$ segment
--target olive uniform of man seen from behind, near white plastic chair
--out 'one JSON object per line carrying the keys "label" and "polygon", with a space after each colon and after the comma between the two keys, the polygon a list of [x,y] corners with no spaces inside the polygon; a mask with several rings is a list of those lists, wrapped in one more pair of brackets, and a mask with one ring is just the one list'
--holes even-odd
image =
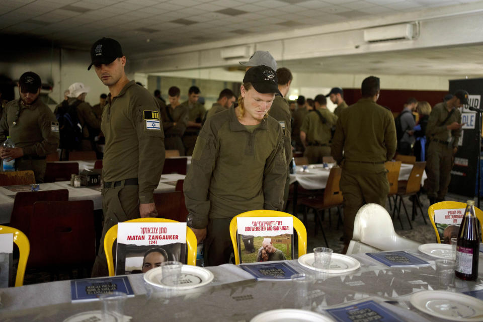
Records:
{"label": "olive uniform of man seen from behind, near white plastic chair", "polygon": [[352,239],[360,207],[366,203],[385,206],[389,183],[384,162],[391,160],[395,151],[396,128],[390,111],[370,98],[342,110],[332,140],[332,156],[342,167],[346,244]]}

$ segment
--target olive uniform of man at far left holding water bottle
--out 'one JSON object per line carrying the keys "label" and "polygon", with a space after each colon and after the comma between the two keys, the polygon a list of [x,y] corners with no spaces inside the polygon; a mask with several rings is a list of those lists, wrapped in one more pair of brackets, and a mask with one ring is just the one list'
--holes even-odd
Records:
{"label": "olive uniform of man at far left holding water bottle", "polygon": [[15,169],[32,170],[35,181],[44,182],[45,156],[59,147],[59,123],[50,108],[40,99],[32,105],[21,100],[9,102],[0,120],[0,142],[7,135],[24,152],[15,160]]}

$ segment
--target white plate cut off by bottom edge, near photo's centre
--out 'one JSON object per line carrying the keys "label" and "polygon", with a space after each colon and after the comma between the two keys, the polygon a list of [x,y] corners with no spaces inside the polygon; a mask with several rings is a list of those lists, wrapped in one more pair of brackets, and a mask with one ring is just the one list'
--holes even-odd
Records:
{"label": "white plate cut off by bottom edge, near photo's centre", "polygon": [[334,320],[311,311],[286,308],[260,313],[250,322],[333,322]]}

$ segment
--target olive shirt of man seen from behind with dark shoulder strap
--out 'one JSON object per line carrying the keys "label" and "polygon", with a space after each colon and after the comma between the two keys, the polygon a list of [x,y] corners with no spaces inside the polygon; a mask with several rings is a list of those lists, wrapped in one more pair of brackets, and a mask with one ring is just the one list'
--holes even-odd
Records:
{"label": "olive shirt of man seen from behind with dark shoulder strap", "polygon": [[327,123],[323,124],[317,112],[312,111],[305,115],[300,131],[305,132],[307,143],[330,145],[332,128],[336,125],[338,117],[328,109],[318,108]]}

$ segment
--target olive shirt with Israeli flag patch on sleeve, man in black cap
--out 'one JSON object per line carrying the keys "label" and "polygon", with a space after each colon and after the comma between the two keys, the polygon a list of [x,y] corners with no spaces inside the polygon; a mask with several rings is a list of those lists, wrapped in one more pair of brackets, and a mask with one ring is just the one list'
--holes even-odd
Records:
{"label": "olive shirt with Israeli flag patch on sleeve, man in black cap", "polygon": [[108,95],[101,130],[106,137],[104,182],[138,178],[139,202],[152,203],[165,162],[163,126],[154,97],[134,81]]}

